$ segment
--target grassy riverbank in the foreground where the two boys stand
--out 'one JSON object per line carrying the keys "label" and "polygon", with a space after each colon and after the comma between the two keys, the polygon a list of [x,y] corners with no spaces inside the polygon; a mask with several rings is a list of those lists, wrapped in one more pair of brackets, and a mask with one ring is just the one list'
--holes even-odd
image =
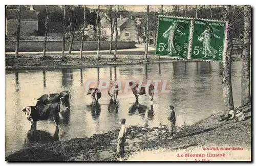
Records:
{"label": "grassy riverbank in the foreground where the two boys stand", "polygon": [[[251,148],[251,105],[242,107],[246,120],[232,123],[219,122],[220,114],[212,114],[194,125],[177,129],[177,135],[169,140],[166,126],[147,128],[131,126],[125,143],[126,159],[142,151],[165,148],[169,151],[194,149],[218,145],[218,147]],[[115,161],[118,130],[95,134],[91,137],[57,141],[17,151],[6,157],[7,161]],[[223,151],[221,151],[223,153]],[[242,153],[242,151],[240,151]],[[136,158],[136,157],[135,157]],[[225,160],[225,158],[224,158]]]}

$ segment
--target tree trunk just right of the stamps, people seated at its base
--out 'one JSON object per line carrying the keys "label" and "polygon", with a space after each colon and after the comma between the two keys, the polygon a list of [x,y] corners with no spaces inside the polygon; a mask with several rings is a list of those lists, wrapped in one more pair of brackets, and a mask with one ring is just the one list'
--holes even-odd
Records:
{"label": "tree trunk just right of the stamps, people seated at its base", "polygon": [[[226,12],[225,12],[225,19],[229,20],[230,22],[230,10],[228,6],[226,6]],[[233,49],[232,44],[232,36],[231,36],[231,28],[228,29],[227,34],[227,51],[226,54],[224,54],[224,63],[223,63],[223,99],[224,99],[224,112],[225,117],[228,116],[229,109],[228,107],[231,107],[234,109],[234,103],[233,103],[233,93],[232,93],[232,83],[231,83],[231,53]]]}

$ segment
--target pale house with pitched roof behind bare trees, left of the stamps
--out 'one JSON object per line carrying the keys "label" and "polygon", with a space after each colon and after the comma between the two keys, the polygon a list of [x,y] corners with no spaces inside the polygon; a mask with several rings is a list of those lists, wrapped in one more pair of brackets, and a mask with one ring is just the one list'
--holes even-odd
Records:
{"label": "pale house with pitched roof behind bare trees, left of the stamps", "polygon": [[[113,20],[114,22],[114,20]],[[100,20],[100,27],[101,27],[101,33],[106,34],[106,36],[108,37],[108,39],[110,40],[110,36],[111,36],[111,27],[110,27],[110,23],[108,20],[106,20],[105,17],[103,17]],[[118,40],[133,40],[133,41],[137,41],[138,40],[138,34],[136,31],[136,24],[135,24],[135,20],[131,17],[122,17],[120,15],[119,18],[117,18],[117,32],[118,32],[118,36],[117,39]],[[114,32],[114,39],[115,39],[115,32]]]}

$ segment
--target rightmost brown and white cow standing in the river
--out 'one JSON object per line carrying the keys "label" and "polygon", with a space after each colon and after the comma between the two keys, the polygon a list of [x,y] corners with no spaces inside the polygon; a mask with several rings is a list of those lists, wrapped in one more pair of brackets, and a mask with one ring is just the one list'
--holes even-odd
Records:
{"label": "rightmost brown and white cow standing in the river", "polygon": [[[133,82],[129,83],[129,86],[133,86]],[[150,86],[147,87],[147,85],[141,85],[140,89],[138,89],[139,85],[136,84],[135,87],[132,88],[133,94],[135,96],[136,102],[138,102],[138,98],[141,95],[146,95],[147,93],[150,96],[150,101],[152,102],[151,105],[153,105],[153,97],[154,97],[154,85],[150,84]],[[146,91],[148,89],[148,91]]]}

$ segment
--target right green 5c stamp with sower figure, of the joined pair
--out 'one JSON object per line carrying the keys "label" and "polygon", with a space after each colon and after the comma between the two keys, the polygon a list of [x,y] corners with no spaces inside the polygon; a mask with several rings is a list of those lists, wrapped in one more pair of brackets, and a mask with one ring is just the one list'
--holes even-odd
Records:
{"label": "right green 5c stamp with sower figure, of the joined pair", "polygon": [[193,21],[193,37],[190,59],[222,61],[226,41],[225,21]]}

